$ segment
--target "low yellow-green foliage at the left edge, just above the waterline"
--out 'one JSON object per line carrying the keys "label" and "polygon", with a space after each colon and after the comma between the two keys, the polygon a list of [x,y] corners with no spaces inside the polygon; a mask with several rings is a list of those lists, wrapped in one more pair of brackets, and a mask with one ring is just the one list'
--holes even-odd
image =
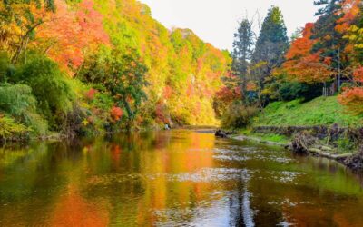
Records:
{"label": "low yellow-green foliage at the left edge, just above the waterline", "polygon": [[29,129],[21,123],[16,123],[14,119],[0,115],[0,140],[15,139],[23,136]]}

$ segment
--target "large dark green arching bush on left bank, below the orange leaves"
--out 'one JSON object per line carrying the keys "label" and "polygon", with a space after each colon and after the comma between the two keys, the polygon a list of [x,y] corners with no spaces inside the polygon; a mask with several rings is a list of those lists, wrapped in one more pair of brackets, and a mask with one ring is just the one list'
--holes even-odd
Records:
{"label": "large dark green arching bush on left bank, below the orange leaves", "polygon": [[59,125],[66,121],[66,115],[73,109],[75,94],[71,79],[58,65],[48,58],[36,56],[23,65],[12,80],[32,88],[39,111],[52,129],[59,130]]}

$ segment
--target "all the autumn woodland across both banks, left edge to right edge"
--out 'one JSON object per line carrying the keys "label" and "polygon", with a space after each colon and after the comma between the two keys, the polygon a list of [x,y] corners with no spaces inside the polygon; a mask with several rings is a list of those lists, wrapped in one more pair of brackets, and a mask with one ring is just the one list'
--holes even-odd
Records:
{"label": "all the autumn woodland across both banks, left edge to right edge", "polygon": [[[189,29],[167,29],[135,0],[1,1],[0,137],[73,137],[165,124],[245,128],[269,124],[261,114],[271,106],[321,96],[329,113],[312,113],[300,124],[357,126],[362,5],[315,5],[317,21],[291,37],[277,6],[258,21],[242,19],[230,53]],[[289,118],[286,112],[274,119]]]}

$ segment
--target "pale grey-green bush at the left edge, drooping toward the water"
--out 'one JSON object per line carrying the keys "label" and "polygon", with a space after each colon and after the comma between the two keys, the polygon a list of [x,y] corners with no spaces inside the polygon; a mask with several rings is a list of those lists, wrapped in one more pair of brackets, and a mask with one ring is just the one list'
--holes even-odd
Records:
{"label": "pale grey-green bush at the left edge, drooping toward the water", "polygon": [[0,86],[0,110],[14,116],[31,127],[36,135],[47,133],[48,125],[36,113],[36,100],[32,89],[25,84],[3,84]]}

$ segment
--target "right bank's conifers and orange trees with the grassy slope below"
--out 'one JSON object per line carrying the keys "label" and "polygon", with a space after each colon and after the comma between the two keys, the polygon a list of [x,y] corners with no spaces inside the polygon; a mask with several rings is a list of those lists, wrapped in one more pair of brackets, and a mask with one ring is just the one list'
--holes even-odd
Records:
{"label": "right bank's conifers and orange trees with the grassy slope below", "polygon": [[[355,0],[314,5],[317,21],[291,37],[278,7],[270,8],[259,35],[253,31],[256,21],[241,21],[230,74],[218,93],[225,127],[246,127],[256,115],[252,124],[361,125],[362,5]],[[312,100],[317,108],[309,106]],[[301,109],[299,116],[296,108]]]}

